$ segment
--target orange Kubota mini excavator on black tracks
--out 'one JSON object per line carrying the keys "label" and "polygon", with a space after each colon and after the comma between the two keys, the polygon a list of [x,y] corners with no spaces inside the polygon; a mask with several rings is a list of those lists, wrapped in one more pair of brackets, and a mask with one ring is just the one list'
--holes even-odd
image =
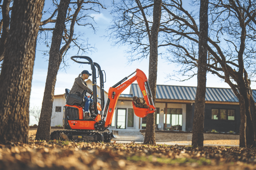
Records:
{"label": "orange Kubota mini excavator on black tracks", "polygon": [[[77,61],[77,58],[85,59],[86,61]],[[112,130],[112,132],[103,132],[106,130],[113,118],[113,112],[117,104],[117,100],[121,94],[130,84],[137,80],[140,87],[141,93],[143,94],[146,108],[136,107],[133,104],[134,113],[136,116],[141,118],[147,116],[149,113],[155,112],[156,108],[152,100],[152,94],[149,88],[149,83],[147,77],[143,71],[136,69],[135,72],[129,76],[123,78],[114,86],[110,87],[108,93],[108,99],[106,103],[106,108],[104,113],[99,112],[104,109],[104,83],[106,82],[106,74],[104,70],[98,63],[94,63],[90,57],[87,56],[73,56],[71,59],[77,63],[90,64],[92,70],[92,90],[93,95],[90,98],[93,102],[89,106],[90,116],[93,119],[84,120],[83,105],[84,105],[84,95],[86,91],[82,94],[77,92],[77,94],[69,94],[69,89],[66,89],[66,105],[63,107],[63,129],[67,130],[57,130],[51,133],[51,139],[64,139],[69,138],[73,141],[85,141],[85,142],[110,142],[113,138],[119,138],[118,131]],[[96,72],[97,68],[97,72]],[[103,72],[104,75],[103,76]],[[136,73],[136,74],[135,74]],[[128,77],[135,74],[129,80]],[[100,78],[100,97],[97,96],[97,86],[96,78]],[[105,81],[104,81],[105,77]],[[89,96],[88,96],[89,97]],[[138,106],[138,105],[137,105]],[[105,121],[106,118],[106,121]],[[64,134],[64,135],[63,135]]]}

